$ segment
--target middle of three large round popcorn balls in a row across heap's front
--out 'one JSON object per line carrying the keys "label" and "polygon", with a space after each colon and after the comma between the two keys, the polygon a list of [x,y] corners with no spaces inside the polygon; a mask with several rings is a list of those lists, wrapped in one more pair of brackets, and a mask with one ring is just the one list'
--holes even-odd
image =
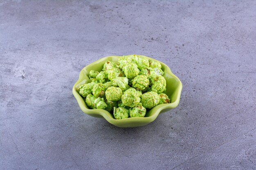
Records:
{"label": "middle of three large round popcorn balls in a row across heap's front", "polygon": [[135,90],[135,88],[129,88],[122,95],[122,102],[125,106],[135,107],[140,102],[139,93]]}

